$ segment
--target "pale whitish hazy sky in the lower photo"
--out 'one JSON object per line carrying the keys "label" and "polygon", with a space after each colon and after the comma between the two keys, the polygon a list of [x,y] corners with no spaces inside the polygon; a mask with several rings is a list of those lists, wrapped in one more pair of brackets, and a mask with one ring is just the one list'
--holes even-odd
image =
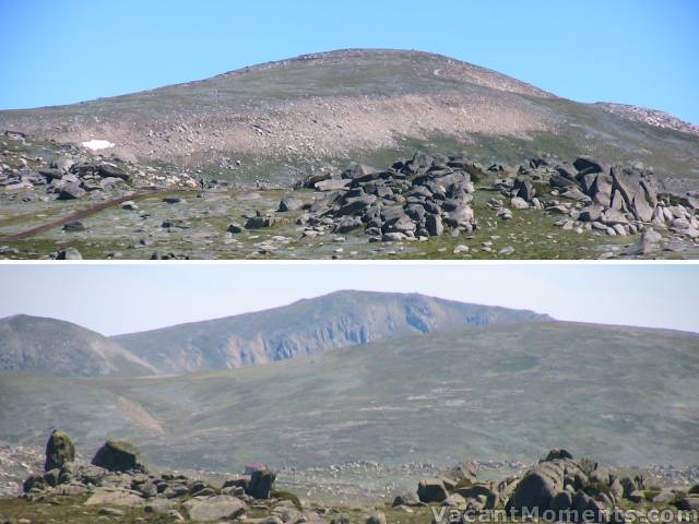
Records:
{"label": "pale whitish hazy sky in the lower photo", "polygon": [[337,289],[422,293],[558,320],[699,332],[699,266],[657,264],[0,265],[0,317],[54,317],[110,335]]}

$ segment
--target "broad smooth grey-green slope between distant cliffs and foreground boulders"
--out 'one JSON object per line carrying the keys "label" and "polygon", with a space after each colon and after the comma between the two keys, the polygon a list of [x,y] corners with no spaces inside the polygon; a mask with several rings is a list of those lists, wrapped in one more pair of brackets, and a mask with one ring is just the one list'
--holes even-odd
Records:
{"label": "broad smooth grey-green slope between distant cliffs and foreground boulders", "polygon": [[[153,463],[233,469],[348,460],[699,462],[697,335],[574,323],[415,335],[256,368],[159,379],[3,376],[0,436],[61,425],[135,438]],[[165,436],[115,412],[122,395]],[[104,407],[107,406],[107,407]],[[31,414],[31,416],[28,415]],[[128,417],[128,414],[127,414]],[[12,421],[12,424],[10,424]]]}

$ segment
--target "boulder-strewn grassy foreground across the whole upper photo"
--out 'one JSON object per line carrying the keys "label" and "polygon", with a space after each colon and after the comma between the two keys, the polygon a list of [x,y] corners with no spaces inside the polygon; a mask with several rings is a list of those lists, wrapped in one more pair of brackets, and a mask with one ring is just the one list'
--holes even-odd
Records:
{"label": "boulder-strewn grassy foreground across the whole upper photo", "polygon": [[17,133],[0,147],[8,259],[699,257],[698,193],[642,164],[418,153],[245,189]]}

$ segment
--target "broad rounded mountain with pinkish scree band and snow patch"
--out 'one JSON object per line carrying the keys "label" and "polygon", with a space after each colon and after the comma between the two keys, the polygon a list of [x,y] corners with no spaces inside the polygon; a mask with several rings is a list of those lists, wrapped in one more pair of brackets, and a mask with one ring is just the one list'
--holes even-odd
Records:
{"label": "broad rounded mountain with pinkish scree band and snow patch", "polygon": [[[580,81],[602,79],[581,71]],[[696,128],[620,107],[559,98],[439,55],[348,49],[76,105],[0,111],[0,128],[110,143],[109,151],[142,160],[215,166],[241,183],[291,182],[298,169],[420,144],[460,145],[477,159],[584,153],[647,162],[664,176],[699,174]]]}

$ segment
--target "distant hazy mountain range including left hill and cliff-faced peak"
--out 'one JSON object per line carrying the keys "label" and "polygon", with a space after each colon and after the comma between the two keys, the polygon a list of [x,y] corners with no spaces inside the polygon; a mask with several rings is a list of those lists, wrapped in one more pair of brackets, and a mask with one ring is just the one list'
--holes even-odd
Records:
{"label": "distant hazy mountain range including left hill and cliff-faced peak", "polygon": [[[363,307],[369,311],[363,311]],[[0,319],[0,369],[69,376],[212,371],[333,350],[402,333],[546,319],[549,317],[528,310],[469,305],[419,294],[347,290],[111,337],[68,321],[19,314]]]}

